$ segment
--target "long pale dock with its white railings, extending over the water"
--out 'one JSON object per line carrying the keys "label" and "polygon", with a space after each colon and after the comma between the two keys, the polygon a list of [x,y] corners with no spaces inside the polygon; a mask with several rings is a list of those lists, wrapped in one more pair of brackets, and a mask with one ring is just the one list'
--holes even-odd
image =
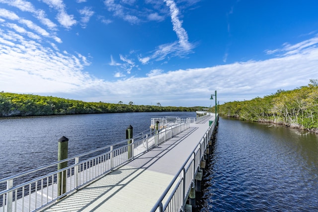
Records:
{"label": "long pale dock with its white railings, extending over the water", "polygon": [[[195,190],[198,189],[196,187],[202,180],[205,155],[209,153],[216,120],[215,114],[209,113],[196,122],[187,123],[187,127],[183,125],[183,129],[180,124],[180,130],[172,126],[159,127],[161,131],[153,136],[147,136],[139,143],[133,141],[132,153],[129,153],[129,147],[120,147],[123,148],[121,150],[110,147],[110,153],[98,156],[97,162],[95,159],[95,162],[89,162],[87,165],[87,161],[83,161],[81,165],[78,159],[75,159],[75,164],[65,169],[70,170],[67,180],[69,188],[65,194],[56,194],[54,173],[50,185],[47,180],[47,187],[43,186],[43,179],[49,179],[49,176],[41,179],[42,190],[36,191],[40,193],[40,197],[36,198],[35,195],[35,200],[32,201],[30,197],[25,197],[24,200],[16,198],[11,205],[3,201],[6,207],[2,205],[0,211],[191,211],[195,204]],[[155,129],[155,126],[153,128]],[[86,173],[81,174],[84,170]],[[88,172],[92,177],[85,180]],[[3,199],[6,198],[5,195],[14,194],[10,189],[13,191],[14,187],[7,189],[5,194],[2,192]],[[43,192],[45,190],[46,193]],[[48,198],[51,191],[52,195]],[[43,197],[46,199],[44,203]],[[37,204],[40,199],[41,204]],[[28,201],[28,207],[21,201]],[[33,209],[31,202],[35,202]]]}

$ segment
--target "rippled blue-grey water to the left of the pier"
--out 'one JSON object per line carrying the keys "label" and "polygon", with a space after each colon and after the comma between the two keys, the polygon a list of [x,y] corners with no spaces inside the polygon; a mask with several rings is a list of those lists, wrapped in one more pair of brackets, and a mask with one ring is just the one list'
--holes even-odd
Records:
{"label": "rippled blue-grey water to the left of the pier", "polygon": [[0,119],[0,179],[57,160],[58,140],[69,139],[74,156],[149,130],[151,118],[195,117],[195,112],[112,113]]}

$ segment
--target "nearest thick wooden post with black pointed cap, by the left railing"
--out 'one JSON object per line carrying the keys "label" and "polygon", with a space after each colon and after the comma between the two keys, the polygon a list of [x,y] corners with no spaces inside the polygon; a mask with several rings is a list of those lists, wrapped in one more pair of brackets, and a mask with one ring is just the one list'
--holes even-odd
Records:
{"label": "nearest thick wooden post with black pointed cap, by the left railing", "polygon": [[[69,146],[68,138],[63,136],[61,139],[59,139],[58,161],[68,158],[68,146]],[[67,166],[68,166],[68,161],[59,163],[58,170],[63,169]],[[67,174],[66,170],[58,173],[58,196],[61,196],[62,194],[66,193],[66,174]]]}

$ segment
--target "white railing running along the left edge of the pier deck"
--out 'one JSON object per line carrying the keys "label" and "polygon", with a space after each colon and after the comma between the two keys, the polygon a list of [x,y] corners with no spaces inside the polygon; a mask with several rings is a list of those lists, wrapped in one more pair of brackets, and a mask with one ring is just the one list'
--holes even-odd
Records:
{"label": "white railing running along the left edge of the pier deck", "polygon": [[[0,185],[6,183],[6,189],[0,191],[0,212],[43,209],[189,127],[189,122],[178,123],[159,131],[150,131],[149,134],[140,134],[131,139],[130,144],[128,140],[121,141],[1,179]],[[58,164],[62,162],[68,162],[68,166],[57,170]],[[63,194],[58,194],[59,175],[66,175],[66,178],[61,177],[61,191],[65,191]],[[17,179],[24,179],[23,183],[15,185]],[[66,183],[63,179],[66,179]],[[65,189],[62,188],[63,184],[66,184]]]}

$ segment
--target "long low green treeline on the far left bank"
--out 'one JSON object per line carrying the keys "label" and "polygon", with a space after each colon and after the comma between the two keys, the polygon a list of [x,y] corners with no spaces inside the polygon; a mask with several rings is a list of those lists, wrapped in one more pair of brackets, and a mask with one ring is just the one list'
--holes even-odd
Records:
{"label": "long low green treeline on the far left bank", "polygon": [[0,92],[0,117],[47,116],[91,113],[196,111],[202,107],[161,107],[159,105],[83,102],[52,96]]}

